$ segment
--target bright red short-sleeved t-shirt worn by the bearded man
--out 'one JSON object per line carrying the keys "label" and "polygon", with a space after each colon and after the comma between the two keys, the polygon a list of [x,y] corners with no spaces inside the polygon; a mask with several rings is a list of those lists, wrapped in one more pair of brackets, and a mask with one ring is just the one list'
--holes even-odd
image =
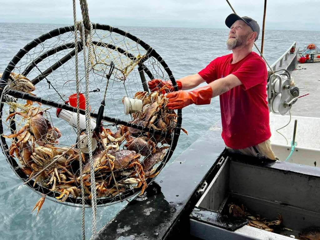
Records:
{"label": "bright red short-sleeved t-shirt worn by the bearded man", "polygon": [[266,63],[255,52],[235,64],[232,53],[214,59],[198,74],[210,83],[233,74],[241,85],[220,95],[222,139],[229,148],[242,149],[271,137],[267,102]]}

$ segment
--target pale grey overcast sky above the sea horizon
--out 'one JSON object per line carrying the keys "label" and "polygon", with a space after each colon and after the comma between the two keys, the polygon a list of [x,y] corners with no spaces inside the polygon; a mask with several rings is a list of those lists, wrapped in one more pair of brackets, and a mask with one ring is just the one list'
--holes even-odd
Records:
{"label": "pale grey overcast sky above the sea horizon", "polygon": [[[264,0],[229,0],[262,28]],[[77,16],[80,19],[79,1]],[[88,0],[90,20],[115,26],[226,28],[225,0]],[[0,0],[0,22],[73,24],[71,0]],[[266,29],[320,30],[319,0],[268,0]]]}

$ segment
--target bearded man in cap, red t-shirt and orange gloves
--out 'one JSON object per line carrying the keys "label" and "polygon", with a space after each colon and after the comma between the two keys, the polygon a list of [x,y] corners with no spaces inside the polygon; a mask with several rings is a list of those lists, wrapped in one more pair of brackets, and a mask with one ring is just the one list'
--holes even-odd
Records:
{"label": "bearded man in cap, red t-shirt and orange gloves", "polygon": [[[220,95],[222,138],[230,152],[276,160],[270,145],[269,109],[267,104],[267,67],[262,58],[252,52],[260,27],[249,17],[230,14],[227,47],[231,54],[218,57],[195,75],[177,81],[180,91],[173,92],[170,81],[148,82],[151,91],[165,84],[168,108],[180,109],[190,104],[210,104]],[[206,82],[208,85],[184,91]]]}

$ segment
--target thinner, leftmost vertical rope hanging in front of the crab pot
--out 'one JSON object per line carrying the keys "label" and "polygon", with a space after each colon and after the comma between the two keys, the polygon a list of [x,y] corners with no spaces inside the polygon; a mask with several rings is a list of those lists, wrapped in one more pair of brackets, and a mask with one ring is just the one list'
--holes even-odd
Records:
{"label": "thinner, leftmost vertical rope hanging in front of the crab pot", "polygon": [[[75,25],[75,68],[76,68],[76,92],[77,92],[77,139],[80,139],[80,113],[79,113],[79,70],[78,70],[78,34],[77,34],[77,20],[76,20],[76,0],[73,0],[73,20]],[[84,204],[84,186],[82,178],[82,157],[81,149],[79,148],[79,166],[80,166],[80,185],[82,198],[82,240],[85,240],[85,204]]]}

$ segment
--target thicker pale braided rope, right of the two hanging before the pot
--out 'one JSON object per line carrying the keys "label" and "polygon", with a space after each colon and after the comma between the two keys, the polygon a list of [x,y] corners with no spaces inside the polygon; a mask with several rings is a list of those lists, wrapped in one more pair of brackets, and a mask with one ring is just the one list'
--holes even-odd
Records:
{"label": "thicker pale braided rope, right of the two hanging before the pot", "polygon": [[[96,192],[96,181],[94,176],[94,166],[93,166],[93,156],[92,156],[92,132],[90,123],[90,106],[89,106],[89,69],[90,60],[89,57],[92,54],[92,24],[90,27],[90,35],[88,39],[88,45],[86,45],[86,40],[84,36],[84,24],[82,22],[82,42],[83,42],[83,54],[84,54],[84,71],[85,71],[85,123],[86,123],[86,133],[89,148],[89,159],[90,159],[90,185],[91,185],[91,197],[92,197],[92,236],[96,233],[96,216],[97,216],[97,192]],[[85,46],[88,46],[88,58],[86,56]]]}

